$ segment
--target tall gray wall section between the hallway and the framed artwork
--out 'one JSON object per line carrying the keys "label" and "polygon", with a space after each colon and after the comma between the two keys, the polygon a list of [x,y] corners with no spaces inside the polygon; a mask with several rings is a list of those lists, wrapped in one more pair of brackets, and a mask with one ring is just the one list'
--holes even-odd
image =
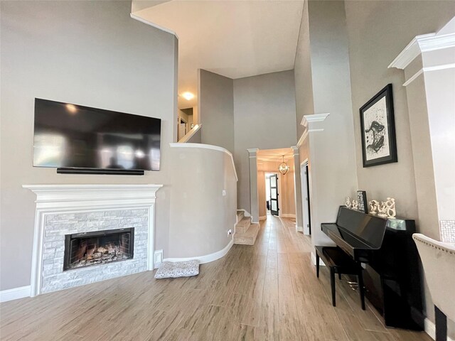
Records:
{"label": "tall gray wall section between the hallway and the framed artwork", "polygon": [[[357,189],[348,35],[343,1],[309,1],[305,15],[309,18],[302,21],[296,59],[297,116],[330,113],[325,121],[310,124],[310,129],[323,131],[310,132],[299,150],[301,161],[311,159],[311,239],[323,245],[332,242],[317,227],[335,221],[344,197]],[[305,112],[312,106],[314,112]]]}

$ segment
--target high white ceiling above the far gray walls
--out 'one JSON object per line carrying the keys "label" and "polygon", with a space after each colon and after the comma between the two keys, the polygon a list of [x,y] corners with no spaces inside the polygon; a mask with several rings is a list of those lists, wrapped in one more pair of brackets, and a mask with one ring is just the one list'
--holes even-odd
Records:
{"label": "high white ceiling above the far gray walls", "polygon": [[[133,1],[134,15],[178,36],[179,94],[196,94],[198,69],[236,79],[294,68],[303,0],[146,3]],[[196,103],[178,99],[180,109]]]}

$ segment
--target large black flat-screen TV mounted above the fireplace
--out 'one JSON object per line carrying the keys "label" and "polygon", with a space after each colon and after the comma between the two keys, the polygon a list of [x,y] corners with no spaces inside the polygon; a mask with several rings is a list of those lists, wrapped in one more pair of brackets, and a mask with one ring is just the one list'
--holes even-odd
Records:
{"label": "large black flat-screen TV mounted above the fireplace", "polygon": [[159,171],[161,119],[35,99],[33,166]]}

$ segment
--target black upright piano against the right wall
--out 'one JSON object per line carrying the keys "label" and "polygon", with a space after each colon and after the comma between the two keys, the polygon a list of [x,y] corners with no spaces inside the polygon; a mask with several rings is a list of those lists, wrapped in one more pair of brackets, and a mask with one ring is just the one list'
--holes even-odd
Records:
{"label": "black upright piano against the right wall", "polygon": [[422,288],[414,220],[387,219],[341,206],[322,231],[363,264],[365,296],[389,327],[423,330]]}

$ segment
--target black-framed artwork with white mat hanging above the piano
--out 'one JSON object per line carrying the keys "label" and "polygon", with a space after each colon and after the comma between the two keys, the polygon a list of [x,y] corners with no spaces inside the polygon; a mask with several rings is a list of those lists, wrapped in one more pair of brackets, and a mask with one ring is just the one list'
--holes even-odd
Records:
{"label": "black-framed artwork with white mat hanging above the piano", "polygon": [[397,162],[392,85],[360,108],[363,167]]}

